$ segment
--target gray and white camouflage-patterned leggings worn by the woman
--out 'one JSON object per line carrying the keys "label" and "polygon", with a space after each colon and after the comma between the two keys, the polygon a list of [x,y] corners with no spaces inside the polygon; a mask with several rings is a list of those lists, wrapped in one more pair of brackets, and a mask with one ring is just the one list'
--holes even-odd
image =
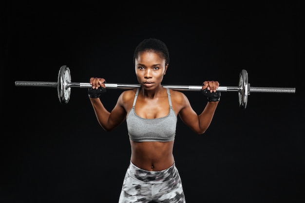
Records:
{"label": "gray and white camouflage-patterned leggings worn by the woman", "polygon": [[185,203],[175,164],[161,171],[148,171],[130,162],[119,203]]}

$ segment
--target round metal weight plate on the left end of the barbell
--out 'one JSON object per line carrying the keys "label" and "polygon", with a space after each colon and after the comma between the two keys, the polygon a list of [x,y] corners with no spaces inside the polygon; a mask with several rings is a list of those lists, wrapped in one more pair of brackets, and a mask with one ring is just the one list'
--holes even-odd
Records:
{"label": "round metal weight plate on the left end of the barbell", "polygon": [[57,79],[57,93],[61,104],[67,104],[70,99],[71,88],[68,84],[71,83],[71,73],[67,66],[61,66]]}

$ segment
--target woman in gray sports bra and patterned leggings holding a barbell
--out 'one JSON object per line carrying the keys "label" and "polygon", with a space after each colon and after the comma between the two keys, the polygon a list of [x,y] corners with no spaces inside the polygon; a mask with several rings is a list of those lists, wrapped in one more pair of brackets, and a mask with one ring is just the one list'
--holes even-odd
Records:
{"label": "woman in gray sports bra and patterned leggings holding a barbell", "polygon": [[184,93],[164,88],[163,76],[169,67],[167,46],[159,39],[144,39],[135,48],[134,70],[140,88],[123,91],[112,111],[99,96],[104,78],[90,78],[88,95],[96,118],[106,131],[126,119],[131,160],[126,171],[119,203],[185,203],[185,196],[173,157],[177,115],[197,134],[212,121],[220,99],[217,81],[205,81],[202,92],[208,103],[201,114],[191,107]]}

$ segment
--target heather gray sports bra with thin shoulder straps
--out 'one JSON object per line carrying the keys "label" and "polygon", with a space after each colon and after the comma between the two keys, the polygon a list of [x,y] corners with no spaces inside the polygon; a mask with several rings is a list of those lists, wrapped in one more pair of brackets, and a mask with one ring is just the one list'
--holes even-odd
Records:
{"label": "heather gray sports bra with thin shoulder straps", "polygon": [[135,142],[168,142],[175,139],[177,116],[172,109],[170,90],[167,88],[170,112],[161,118],[142,118],[134,111],[139,88],[137,89],[133,108],[126,117],[129,139]]}

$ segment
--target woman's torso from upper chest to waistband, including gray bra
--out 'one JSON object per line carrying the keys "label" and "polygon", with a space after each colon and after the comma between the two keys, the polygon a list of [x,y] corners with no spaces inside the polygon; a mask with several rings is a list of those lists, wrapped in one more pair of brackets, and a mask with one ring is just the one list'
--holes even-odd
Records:
{"label": "woman's torso from upper chest to waistband, including gray bra", "polygon": [[134,92],[133,107],[126,117],[131,161],[144,170],[163,170],[174,162],[172,149],[177,114],[172,109],[170,91],[164,90],[153,98],[138,94],[138,90]]}

